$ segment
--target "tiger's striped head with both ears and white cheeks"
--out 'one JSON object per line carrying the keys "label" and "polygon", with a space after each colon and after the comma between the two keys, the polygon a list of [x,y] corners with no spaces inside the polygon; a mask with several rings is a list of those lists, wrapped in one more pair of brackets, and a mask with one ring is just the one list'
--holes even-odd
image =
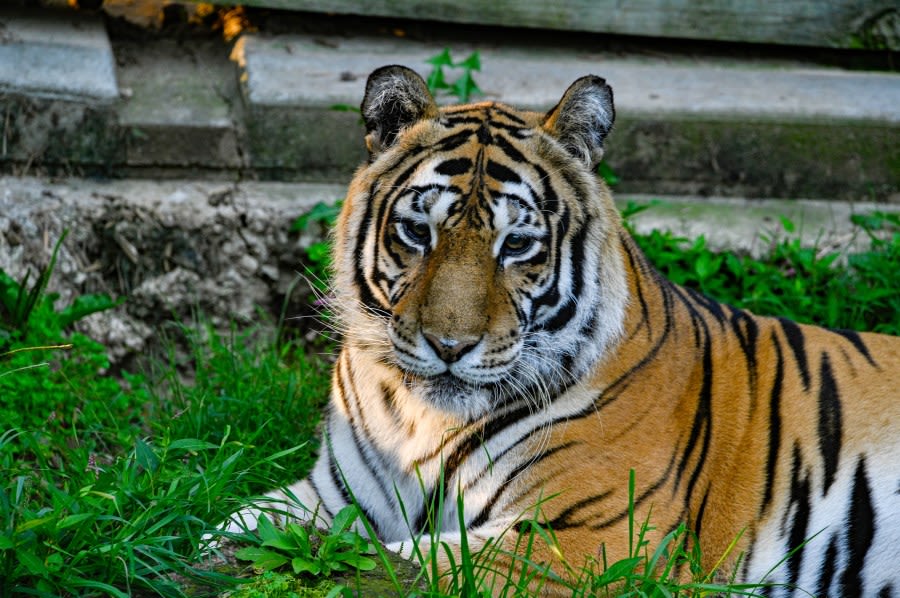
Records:
{"label": "tiger's striped head with both ears and white cheeks", "polygon": [[581,78],[546,114],[439,108],[387,66],[362,115],[370,160],[335,239],[346,341],[467,421],[575,383],[621,335],[627,301],[618,213],[594,172],[609,86]]}

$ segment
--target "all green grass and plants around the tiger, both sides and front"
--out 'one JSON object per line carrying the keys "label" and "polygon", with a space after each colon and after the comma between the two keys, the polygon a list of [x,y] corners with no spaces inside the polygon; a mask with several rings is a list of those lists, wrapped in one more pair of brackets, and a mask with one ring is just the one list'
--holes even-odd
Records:
{"label": "all green grass and plants around the tiger, both sides and front", "polygon": [[[333,213],[320,216],[328,221]],[[853,255],[802,247],[790,238],[772,242],[764,258],[714,253],[702,240],[665,233],[639,236],[638,242],[669,278],[733,305],[900,334],[900,219],[876,214],[857,224],[872,247]],[[313,273],[324,276],[327,261],[319,254],[312,258]],[[114,377],[105,349],[72,332],[71,324],[115,302],[90,296],[58,306],[44,292],[49,269],[34,282],[3,276],[0,596],[179,596],[233,583],[224,573],[196,567],[200,538],[247,497],[308,471],[329,366],[306,347],[282,340],[275,323],[233,326],[223,334],[198,317],[168,329],[168,351],[151,368]],[[519,562],[527,564],[536,543],[554,542],[552,530],[538,521],[520,540]],[[660,596],[723,591],[710,585],[710,572],[696,569],[699,557],[688,530],[652,547],[644,541],[652,521],[633,525],[628,559],[570,564],[581,580],[574,595],[629,588],[635,595]],[[434,544],[422,555],[424,577],[410,582],[376,549],[388,587],[401,593],[415,588],[419,595],[478,595],[493,584],[513,596],[544,574],[528,566],[497,571],[496,563],[508,559],[498,560],[502,554],[490,545],[464,551],[439,585],[431,563],[433,551],[443,548]],[[659,574],[644,573],[648,562],[660,563]],[[678,562],[693,572],[687,585],[667,576]],[[266,583],[285,596],[296,594],[279,575],[254,582],[244,595],[265,595]],[[311,578],[311,585],[317,583]],[[340,585],[319,591],[342,592]]]}

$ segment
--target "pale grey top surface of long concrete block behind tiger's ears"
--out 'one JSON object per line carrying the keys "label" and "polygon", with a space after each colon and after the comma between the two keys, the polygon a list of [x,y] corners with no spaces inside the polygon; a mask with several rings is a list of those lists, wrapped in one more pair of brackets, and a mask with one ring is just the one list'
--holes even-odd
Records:
{"label": "pale grey top surface of long concrete block behind tiger's ears", "polygon": [[[329,107],[359,95],[360,82],[375,68],[430,68],[426,60],[443,47],[403,38],[248,34],[234,56],[245,68],[251,104]],[[483,99],[522,108],[547,110],[575,79],[596,74],[615,90],[617,114],[630,118],[860,120],[900,126],[900,75],[892,73],[712,58],[622,58],[490,41],[453,48],[460,58],[474,51],[481,54],[476,78]]]}

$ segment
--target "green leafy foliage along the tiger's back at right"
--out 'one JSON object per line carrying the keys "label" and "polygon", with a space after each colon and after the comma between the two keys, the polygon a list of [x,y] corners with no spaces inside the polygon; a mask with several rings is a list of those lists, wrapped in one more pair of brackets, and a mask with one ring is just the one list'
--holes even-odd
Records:
{"label": "green leafy foliage along the tiger's back at right", "polygon": [[[642,209],[629,206],[624,215]],[[769,252],[755,258],[713,252],[703,237],[632,234],[663,275],[724,303],[829,328],[900,335],[900,216],[879,212],[854,216],[853,223],[869,237],[868,250],[824,251],[788,237],[768,239]],[[782,225],[789,233],[795,228],[787,219]]]}

